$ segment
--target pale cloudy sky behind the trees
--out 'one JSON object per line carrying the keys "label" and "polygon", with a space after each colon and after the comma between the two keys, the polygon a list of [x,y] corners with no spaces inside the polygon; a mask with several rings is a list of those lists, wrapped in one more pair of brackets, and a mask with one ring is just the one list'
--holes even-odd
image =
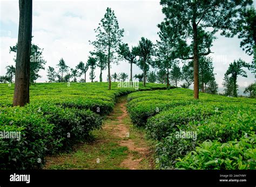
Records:
{"label": "pale cloudy sky behind the trees", "polygon": [[[93,50],[89,40],[95,40],[94,29],[104,17],[107,7],[114,10],[119,27],[125,31],[123,42],[129,46],[138,45],[141,37],[154,43],[159,39],[157,24],[163,21],[164,15],[159,1],[156,0],[33,0],[32,43],[44,49],[43,58],[47,61],[45,70],[39,71],[42,78],[38,78],[36,82],[48,81],[46,69],[48,66],[56,68],[62,57],[70,68],[75,68],[79,61],[87,61],[89,52]],[[0,75],[4,75],[6,66],[15,65],[15,54],[9,53],[9,49],[18,41],[18,0],[0,0],[0,10]],[[222,82],[228,65],[239,58],[251,63],[253,56],[242,51],[237,36],[225,38],[218,33],[215,36],[217,39],[211,48],[213,53],[209,56],[213,58],[215,78],[219,91],[222,92]],[[247,78],[238,77],[240,94],[247,85],[255,81],[254,75],[246,71]],[[126,61],[112,64],[111,74],[114,72],[124,72],[130,76],[130,64]],[[133,66],[133,75],[139,73],[142,70]],[[106,77],[107,70],[103,72],[103,81],[106,81]],[[89,71],[86,80],[89,81]],[[99,81],[99,68],[96,70],[96,80]]]}

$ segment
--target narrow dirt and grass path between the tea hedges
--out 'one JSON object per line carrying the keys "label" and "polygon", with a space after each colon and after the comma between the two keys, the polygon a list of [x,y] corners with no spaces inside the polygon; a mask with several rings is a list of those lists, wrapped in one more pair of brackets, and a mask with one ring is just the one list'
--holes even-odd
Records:
{"label": "narrow dirt and grass path between the tea hedges", "polygon": [[44,169],[154,169],[152,143],[144,130],[133,127],[126,97],[118,99],[93,135],[95,141],[81,143],[72,153],[47,157]]}

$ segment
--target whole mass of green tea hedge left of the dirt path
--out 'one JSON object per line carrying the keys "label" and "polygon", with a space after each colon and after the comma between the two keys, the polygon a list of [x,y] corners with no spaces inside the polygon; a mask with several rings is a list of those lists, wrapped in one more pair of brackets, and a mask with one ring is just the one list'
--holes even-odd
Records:
{"label": "whole mass of green tea hedge left of the dirt path", "polygon": [[[116,98],[137,91],[107,83],[37,83],[30,86],[30,104],[12,107],[14,85],[0,84],[0,132],[20,132],[19,140],[0,138],[1,169],[42,168],[45,156],[70,151],[91,138]],[[162,84],[139,90],[165,89]]]}

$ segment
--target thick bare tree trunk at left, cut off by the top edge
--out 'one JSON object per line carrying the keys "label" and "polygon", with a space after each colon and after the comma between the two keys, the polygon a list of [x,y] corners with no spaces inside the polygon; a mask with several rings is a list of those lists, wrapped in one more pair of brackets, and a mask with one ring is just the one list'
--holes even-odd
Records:
{"label": "thick bare tree trunk at left, cut off by the top edge", "polygon": [[15,72],[14,106],[29,103],[32,0],[19,0],[19,32]]}

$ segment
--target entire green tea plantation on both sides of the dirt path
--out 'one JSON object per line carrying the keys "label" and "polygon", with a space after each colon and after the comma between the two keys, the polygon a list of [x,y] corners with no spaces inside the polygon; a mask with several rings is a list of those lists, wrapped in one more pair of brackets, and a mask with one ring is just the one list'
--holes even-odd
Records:
{"label": "entire green tea plantation on both sides of the dirt path", "polygon": [[21,132],[20,139],[0,138],[1,169],[41,169],[45,156],[69,152],[93,140],[119,96],[127,96],[134,125],[156,141],[159,169],[255,169],[256,100],[165,90],[148,83],[139,89],[112,83],[38,83],[30,104],[12,107],[14,85],[0,84],[0,132]]}

